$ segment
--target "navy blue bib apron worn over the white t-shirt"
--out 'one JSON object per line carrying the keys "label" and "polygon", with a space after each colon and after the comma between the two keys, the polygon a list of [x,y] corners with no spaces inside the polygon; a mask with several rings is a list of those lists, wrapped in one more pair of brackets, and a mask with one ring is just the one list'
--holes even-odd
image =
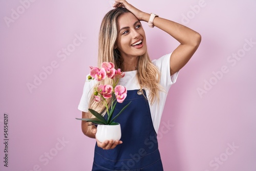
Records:
{"label": "navy blue bib apron worn over the white t-shirt", "polygon": [[[114,116],[130,101],[130,105],[115,120],[121,125],[122,144],[104,150],[95,145],[93,171],[96,170],[163,170],[158,150],[150,106],[138,90],[127,91],[122,103],[117,103]],[[143,90],[146,95],[145,91]],[[114,117],[113,116],[113,117]]]}

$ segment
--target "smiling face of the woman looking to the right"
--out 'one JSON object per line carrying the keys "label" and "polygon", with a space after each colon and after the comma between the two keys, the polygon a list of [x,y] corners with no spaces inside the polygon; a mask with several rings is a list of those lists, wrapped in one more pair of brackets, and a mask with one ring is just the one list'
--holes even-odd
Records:
{"label": "smiling face of the woman looking to the right", "polygon": [[124,60],[141,56],[146,52],[145,32],[131,12],[126,12],[118,18],[116,46]]}

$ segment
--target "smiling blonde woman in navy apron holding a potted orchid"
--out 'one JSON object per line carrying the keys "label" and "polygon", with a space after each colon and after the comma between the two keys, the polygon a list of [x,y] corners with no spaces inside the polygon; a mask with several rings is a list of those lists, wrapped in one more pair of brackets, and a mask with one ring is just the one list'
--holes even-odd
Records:
{"label": "smiling blonde woman in navy apron holding a potted orchid", "polygon": [[[201,42],[197,32],[170,20],[140,11],[125,0],[115,0],[101,24],[98,62],[115,63],[125,76],[119,84],[128,90],[125,105],[129,108],[118,117],[120,141],[107,140],[95,145],[93,170],[163,170],[157,144],[157,131],[167,92],[175,83],[178,71],[196,52]],[[147,54],[141,21],[158,27],[180,42],[170,54],[151,61]],[[111,81],[111,80],[104,80]],[[105,84],[106,82],[100,82]],[[108,82],[110,83],[110,82]],[[84,84],[78,109],[83,118],[92,117],[88,109],[102,112],[104,106],[93,100],[95,81]],[[82,121],[84,135],[95,138],[96,127]]]}

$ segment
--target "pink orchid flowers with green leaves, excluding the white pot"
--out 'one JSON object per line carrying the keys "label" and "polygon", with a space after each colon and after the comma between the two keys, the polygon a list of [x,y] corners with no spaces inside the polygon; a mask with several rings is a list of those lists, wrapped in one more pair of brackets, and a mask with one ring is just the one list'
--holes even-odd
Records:
{"label": "pink orchid flowers with green leaves, excluding the white pot", "polygon": [[[121,69],[115,69],[115,65],[112,62],[103,62],[101,64],[101,68],[98,67],[90,67],[90,75],[88,79],[95,79],[97,81],[101,81],[106,77],[113,79],[113,85],[99,85],[94,90],[94,100],[96,102],[101,102],[106,108],[106,114],[108,115],[106,119],[98,112],[93,109],[88,109],[95,118],[76,118],[78,120],[83,120],[87,122],[92,122],[93,124],[105,124],[105,125],[116,125],[118,123],[114,122],[114,120],[127,108],[127,106],[131,103],[128,103],[123,107],[123,109],[114,117],[113,113],[116,107],[117,102],[122,103],[123,100],[127,96],[127,90],[125,87],[118,85],[119,78],[124,77],[124,73],[121,72]],[[116,79],[114,79],[116,78]],[[112,98],[113,97],[113,98]],[[111,105],[109,109],[109,105],[106,99],[111,99]]]}

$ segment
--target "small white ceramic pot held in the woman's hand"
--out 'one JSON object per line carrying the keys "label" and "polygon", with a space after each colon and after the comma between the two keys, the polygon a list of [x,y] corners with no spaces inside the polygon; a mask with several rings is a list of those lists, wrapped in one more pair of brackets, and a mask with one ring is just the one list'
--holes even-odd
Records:
{"label": "small white ceramic pot held in the woman's hand", "polygon": [[98,125],[96,138],[103,142],[105,140],[120,140],[121,138],[121,126],[118,125]]}

